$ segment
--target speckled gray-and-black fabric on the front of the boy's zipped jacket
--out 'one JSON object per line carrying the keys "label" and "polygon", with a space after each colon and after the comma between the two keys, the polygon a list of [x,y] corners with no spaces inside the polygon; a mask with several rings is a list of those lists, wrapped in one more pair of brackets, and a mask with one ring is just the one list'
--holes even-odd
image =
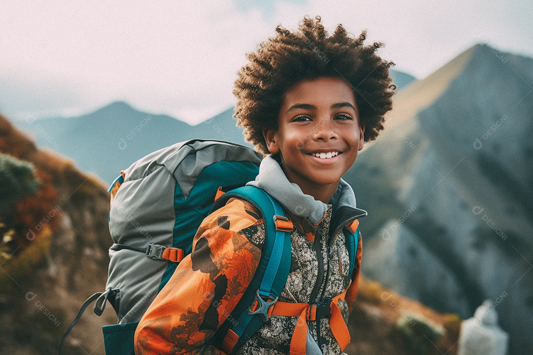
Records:
{"label": "speckled gray-and-black fabric on the front of the boy's zipped jacket", "polygon": [[[287,283],[279,301],[320,303],[342,293],[350,283],[350,260],[342,229],[337,235],[330,233],[332,205],[327,206],[324,218],[318,224],[312,224],[290,213],[289,217],[295,227],[291,234],[292,260]],[[262,242],[263,230],[264,228],[257,228],[255,235],[249,235],[248,238],[254,242]],[[237,353],[288,354],[297,319],[271,316]],[[330,330],[327,315],[315,321],[308,321],[308,328],[322,353],[341,353]]]}

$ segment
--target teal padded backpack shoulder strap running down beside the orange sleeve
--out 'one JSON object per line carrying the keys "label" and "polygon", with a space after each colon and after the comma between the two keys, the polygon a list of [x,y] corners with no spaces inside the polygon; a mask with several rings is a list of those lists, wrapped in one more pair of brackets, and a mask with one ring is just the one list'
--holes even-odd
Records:
{"label": "teal padded backpack shoulder strap running down beside the orange sleeve", "polygon": [[231,197],[248,201],[261,212],[265,242],[252,282],[217,332],[217,343],[228,355],[268,321],[289,275],[290,232],[293,230],[281,205],[262,189],[254,186],[234,189],[217,200],[214,209],[220,208]]}

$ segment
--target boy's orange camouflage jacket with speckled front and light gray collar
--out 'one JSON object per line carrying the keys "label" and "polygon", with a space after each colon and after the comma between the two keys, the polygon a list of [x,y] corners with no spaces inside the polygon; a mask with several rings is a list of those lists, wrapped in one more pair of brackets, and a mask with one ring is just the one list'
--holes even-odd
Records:
{"label": "boy's orange camouflage jacket with speckled front and light gray collar", "polygon": [[[351,187],[341,180],[330,204],[316,201],[287,180],[271,155],[262,161],[256,180],[248,184],[278,200],[294,225],[291,265],[279,301],[319,303],[350,286],[345,302],[351,310],[361,238],[351,280],[343,229],[366,215],[355,208]],[[180,262],[141,319],[135,333],[136,354],[224,354],[209,339],[231,317],[251,282],[261,258],[264,230],[258,211],[243,200],[230,199],[210,214],[196,233],[192,253]],[[348,321],[348,314],[343,316]],[[297,319],[272,315],[237,354],[288,353]],[[308,321],[306,352],[342,353],[327,317]]]}

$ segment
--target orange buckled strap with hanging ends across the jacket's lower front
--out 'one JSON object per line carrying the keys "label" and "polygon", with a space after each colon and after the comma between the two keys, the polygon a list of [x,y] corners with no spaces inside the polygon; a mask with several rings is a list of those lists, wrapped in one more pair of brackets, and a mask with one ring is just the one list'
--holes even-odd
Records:
{"label": "orange buckled strap with hanging ends across the jacket's lower front", "polygon": [[[350,332],[340,309],[337,307],[338,301],[344,301],[346,291],[340,295],[335,296],[329,305],[331,318],[329,319],[329,327],[332,329],[333,336],[341,351],[346,345],[350,343]],[[304,355],[305,342],[307,340],[307,320],[317,319],[317,305],[308,303],[290,303],[290,302],[276,302],[274,304],[272,315],[285,317],[298,317],[292,339],[290,340],[290,355]]]}

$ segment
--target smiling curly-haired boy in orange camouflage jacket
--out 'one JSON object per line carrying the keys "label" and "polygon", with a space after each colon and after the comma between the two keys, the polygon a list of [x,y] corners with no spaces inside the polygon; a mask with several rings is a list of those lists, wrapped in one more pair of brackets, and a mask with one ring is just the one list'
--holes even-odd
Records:
{"label": "smiling curly-haired boy in orange camouflage jacket", "polygon": [[[350,278],[344,228],[355,230],[357,218],[366,214],[355,208],[353,191],[341,177],[364,142],[383,129],[383,114],[391,109],[393,63],[375,54],[380,44],[363,45],[365,32],[353,39],[339,25],[328,37],[318,17],[304,18],[296,32],[280,26],[276,31],[239,72],[235,117],[247,140],[265,155],[249,185],[278,200],[294,226],[292,262],[278,303],[303,304],[305,310],[331,306],[316,317],[306,311],[300,317],[282,315],[274,308],[235,352],[339,354],[349,341],[347,319],[342,321],[347,312],[341,325],[334,313],[341,314],[346,303],[351,309],[361,257],[359,238]],[[141,319],[138,355],[224,354],[210,339],[259,264],[265,235],[258,214],[248,202],[230,199],[203,221],[192,253]]]}

